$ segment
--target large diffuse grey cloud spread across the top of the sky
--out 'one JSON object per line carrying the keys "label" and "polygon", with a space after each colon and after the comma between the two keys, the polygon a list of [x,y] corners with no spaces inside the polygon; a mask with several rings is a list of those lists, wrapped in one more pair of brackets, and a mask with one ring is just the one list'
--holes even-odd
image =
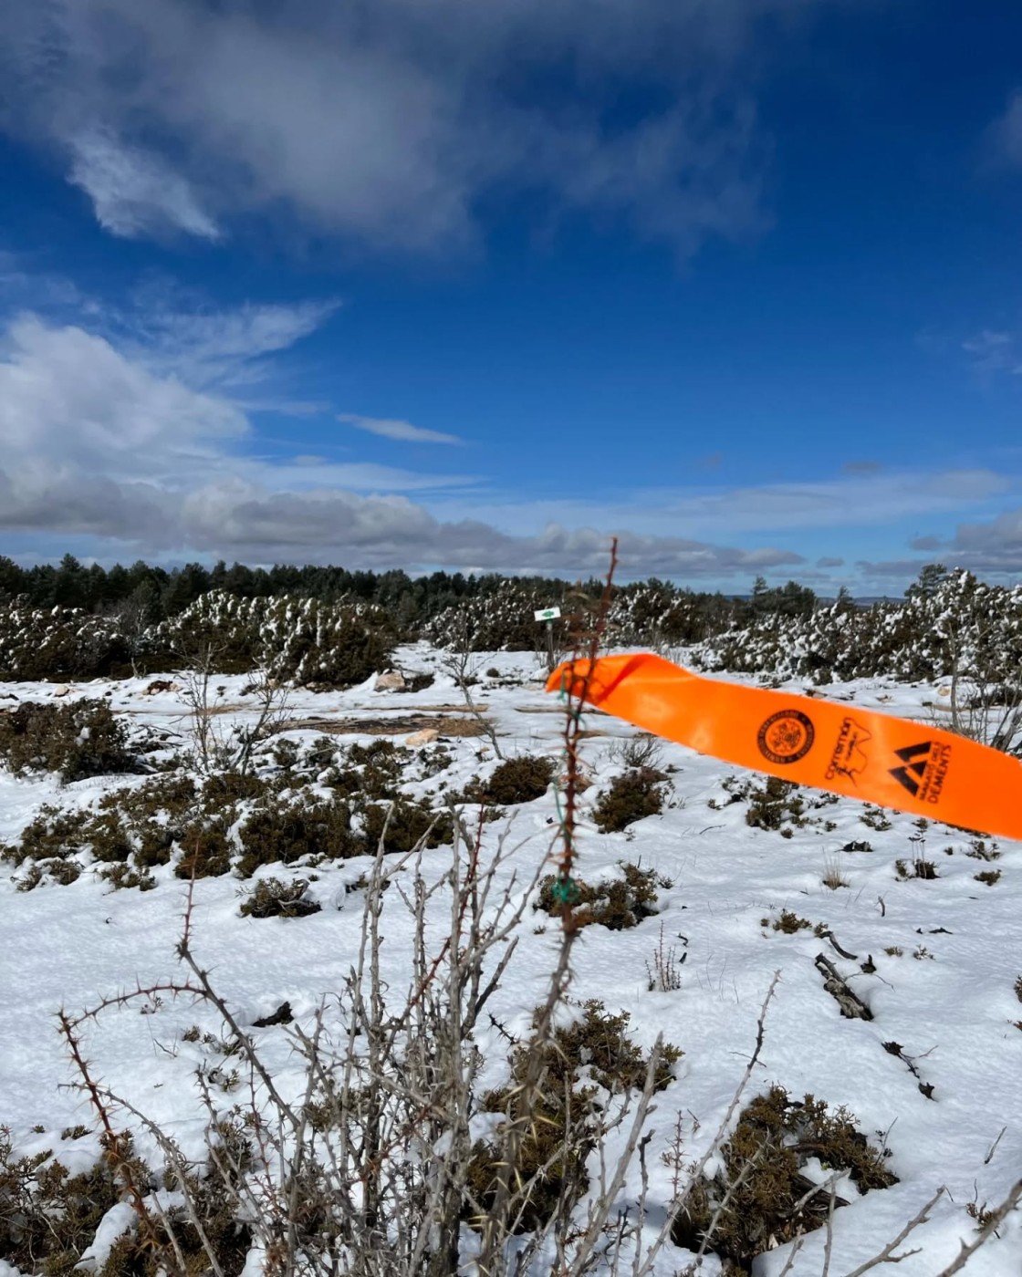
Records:
{"label": "large diffuse grey cloud spread across the top of the sky", "polygon": [[[264,211],[436,249],[473,241],[480,197],[528,190],[685,255],[763,225],[754,32],[819,4],[4,5],[0,124],[64,153],[118,235],[215,240]],[[629,84],[658,105],[616,112]]]}

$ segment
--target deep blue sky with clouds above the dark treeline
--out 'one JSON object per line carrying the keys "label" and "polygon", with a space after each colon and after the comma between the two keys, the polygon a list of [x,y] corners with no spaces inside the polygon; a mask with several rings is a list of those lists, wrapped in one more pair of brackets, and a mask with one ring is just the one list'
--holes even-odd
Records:
{"label": "deep blue sky with clouds above the dark treeline", "polygon": [[0,0],[0,552],[1022,578],[1022,6]]}

